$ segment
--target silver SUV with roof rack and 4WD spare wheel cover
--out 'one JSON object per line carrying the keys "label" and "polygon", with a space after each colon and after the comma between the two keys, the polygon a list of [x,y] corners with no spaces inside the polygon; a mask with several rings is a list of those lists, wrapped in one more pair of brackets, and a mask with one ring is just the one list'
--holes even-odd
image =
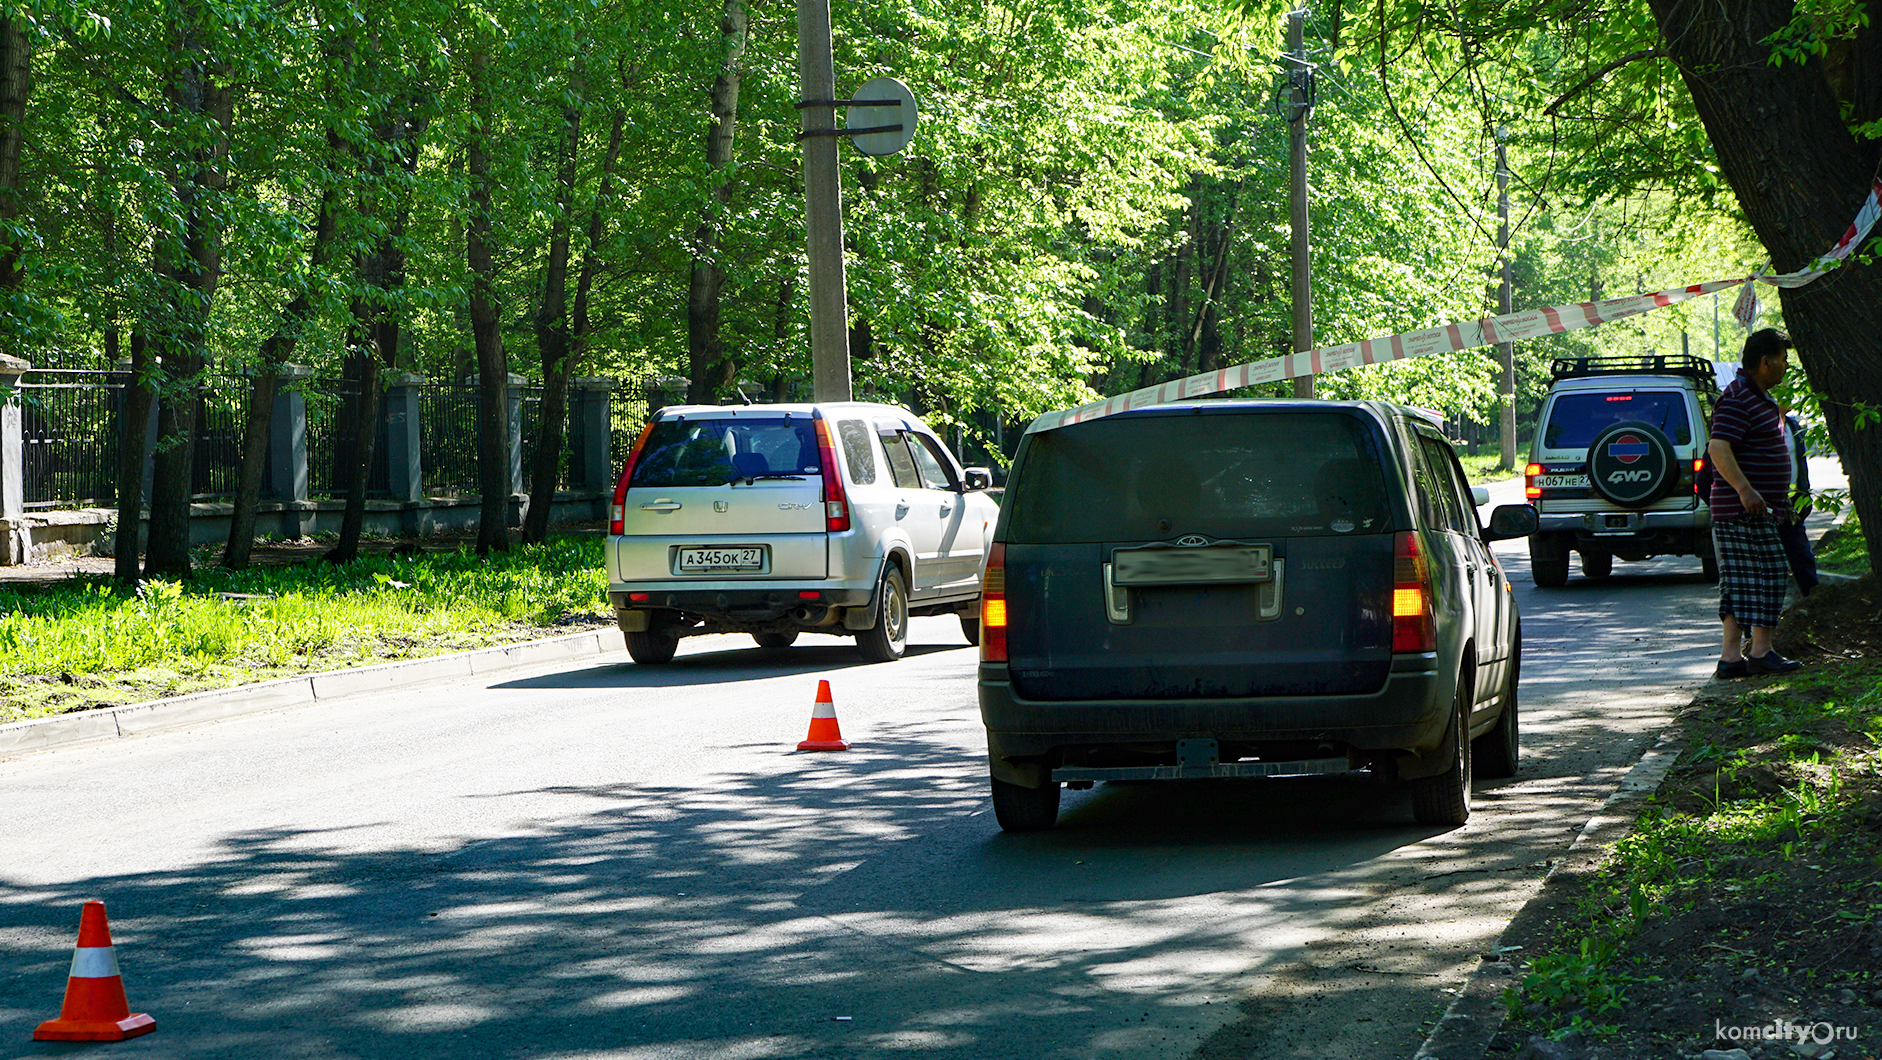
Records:
{"label": "silver SUV with roof rack and 4WD spare wheel cover", "polygon": [[1718,399],[1713,363],[1692,356],[1558,358],[1524,469],[1538,531],[1530,576],[1568,584],[1568,554],[1605,578],[1615,559],[1698,555],[1718,580],[1713,516],[1694,490]]}

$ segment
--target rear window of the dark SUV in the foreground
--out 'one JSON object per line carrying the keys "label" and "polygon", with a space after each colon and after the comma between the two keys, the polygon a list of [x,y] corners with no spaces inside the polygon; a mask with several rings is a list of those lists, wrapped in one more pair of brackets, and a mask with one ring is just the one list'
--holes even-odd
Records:
{"label": "rear window of the dark SUV in the foreground", "polygon": [[1014,542],[1387,529],[1378,435],[1346,414],[1114,416],[1028,441]]}

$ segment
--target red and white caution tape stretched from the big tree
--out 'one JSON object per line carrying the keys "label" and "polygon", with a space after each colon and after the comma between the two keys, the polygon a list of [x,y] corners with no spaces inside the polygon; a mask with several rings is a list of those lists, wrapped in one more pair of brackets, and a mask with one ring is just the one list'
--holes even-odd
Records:
{"label": "red and white caution tape stretched from the big tree", "polygon": [[1359,365],[1402,361],[1427,358],[1430,354],[1453,354],[1457,350],[1470,350],[1475,346],[1494,346],[1496,343],[1539,339],[1541,335],[1609,324],[1651,309],[1679,305],[1681,301],[1731,290],[1735,286],[1743,286],[1745,292],[1739,296],[1733,314],[1739,316],[1741,324],[1750,328],[1750,324],[1758,318],[1758,297],[1752,294],[1754,281],[1780,288],[1799,288],[1837,267],[1842,258],[1848,258],[1850,252],[1854,252],[1856,247],[1859,247],[1869,235],[1869,230],[1874,228],[1878,218],[1882,218],[1882,179],[1874,181],[1869,188],[1869,198],[1863,201],[1861,211],[1858,211],[1856,222],[1842,233],[1842,239],[1839,239],[1827,254],[1810,262],[1807,269],[1795,273],[1777,277],[1750,275],[1730,281],[1709,281],[1673,290],[1656,290],[1652,294],[1635,294],[1630,297],[1605,297],[1602,301],[1579,301],[1575,305],[1555,305],[1549,309],[1524,309],[1521,313],[1506,313],[1502,316],[1485,316],[1483,320],[1459,320],[1455,324],[1427,328],[1423,331],[1408,331],[1404,335],[1342,343],[1338,346],[1319,346],[1300,354],[1248,361],[1203,375],[1191,375],[1188,378],[1176,378],[1157,386],[1146,386],[1105,401],[1078,405],[1077,409],[1046,412],[1033,424],[1033,429],[1050,431],[1054,427],[1082,424],[1101,416],[1116,416],[1118,412],[1142,409],[1146,405],[1167,405],[1171,401],[1206,397],[1210,393],[1223,393],[1227,390],[1238,390],[1257,382],[1278,382],[1284,378],[1344,371]]}

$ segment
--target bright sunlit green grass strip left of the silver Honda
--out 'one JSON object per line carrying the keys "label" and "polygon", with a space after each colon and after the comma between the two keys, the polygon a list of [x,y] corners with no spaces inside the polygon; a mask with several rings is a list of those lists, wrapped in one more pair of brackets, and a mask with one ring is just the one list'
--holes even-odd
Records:
{"label": "bright sunlit green grass strip left of the silver Honda", "polygon": [[546,636],[606,616],[600,538],[188,582],[0,587],[0,723]]}

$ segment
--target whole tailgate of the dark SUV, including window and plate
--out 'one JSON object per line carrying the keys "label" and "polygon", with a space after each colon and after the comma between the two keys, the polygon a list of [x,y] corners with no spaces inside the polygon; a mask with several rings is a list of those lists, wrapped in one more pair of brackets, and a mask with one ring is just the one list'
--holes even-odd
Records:
{"label": "whole tailgate of the dark SUV, including window and plate", "polygon": [[1402,503],[1389,452],[1364,407],[1210,403],[1029,433],[997,535],[1014,689],[1376,691]]}

